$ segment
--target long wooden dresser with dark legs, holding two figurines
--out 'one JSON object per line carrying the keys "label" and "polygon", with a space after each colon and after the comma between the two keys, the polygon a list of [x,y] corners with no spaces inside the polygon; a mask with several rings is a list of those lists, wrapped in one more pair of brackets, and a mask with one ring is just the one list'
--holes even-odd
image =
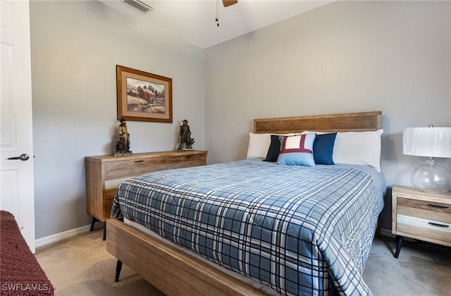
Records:
{"label": "long wooden dresser with dark legs, holding two figurines", "polygon": [[[86,162],[86,209],[95,221],[106,221],[120,183],[135,175],[172,168],[204,166],[206,151],[168,151],[135,153],[129,156],[87,156]],[[104,233],[105,239],[105,233]]]}

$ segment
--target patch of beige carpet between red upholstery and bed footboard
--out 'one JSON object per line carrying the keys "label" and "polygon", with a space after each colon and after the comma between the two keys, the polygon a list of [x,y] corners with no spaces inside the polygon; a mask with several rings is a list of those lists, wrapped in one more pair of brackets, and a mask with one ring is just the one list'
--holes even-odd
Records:
{"label": "patch of beige carpet between red upholstery and bed footboard", "polygon": [[125,265],[115,283],[116,258],[106,252],[102,237],[103,228],[36,250],[37,261],[54,285],[56,296],[163,295]]}

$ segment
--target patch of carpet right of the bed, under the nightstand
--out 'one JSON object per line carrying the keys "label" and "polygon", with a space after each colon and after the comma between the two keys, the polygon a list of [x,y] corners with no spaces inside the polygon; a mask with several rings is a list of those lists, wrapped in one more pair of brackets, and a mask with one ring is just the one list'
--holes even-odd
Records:
{"label": "patch of carpet right of the bed, under the nightstand", "polygon": [[364,269],[373,295],[451,295],[451,248],[404,239],[393,257],[394,238],[378,237]]}

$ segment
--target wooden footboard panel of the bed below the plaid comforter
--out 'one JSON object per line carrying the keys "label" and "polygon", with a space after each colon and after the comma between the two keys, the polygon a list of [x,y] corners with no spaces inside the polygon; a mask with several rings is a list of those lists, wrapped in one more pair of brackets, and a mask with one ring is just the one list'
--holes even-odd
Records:
{"label": "wooden footboard panel of the bed below the plaid comforter", "polygon": [[166,295],[264,295],[117,219],[106,228],[106,250]]}

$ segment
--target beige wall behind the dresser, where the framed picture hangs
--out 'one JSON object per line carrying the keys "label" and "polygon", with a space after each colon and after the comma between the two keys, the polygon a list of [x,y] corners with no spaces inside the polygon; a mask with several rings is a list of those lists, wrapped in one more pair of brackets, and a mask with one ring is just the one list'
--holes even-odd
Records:
{"label": "beige wall behind the dresser, where the framed picture hangs", "polygon": [[86,226],[85,156],[118,141],[116,64],[173,79],[173,123],[128,121],[133,152],[204,149],[203,51],[98,1],[31,1],[36,238]]}

